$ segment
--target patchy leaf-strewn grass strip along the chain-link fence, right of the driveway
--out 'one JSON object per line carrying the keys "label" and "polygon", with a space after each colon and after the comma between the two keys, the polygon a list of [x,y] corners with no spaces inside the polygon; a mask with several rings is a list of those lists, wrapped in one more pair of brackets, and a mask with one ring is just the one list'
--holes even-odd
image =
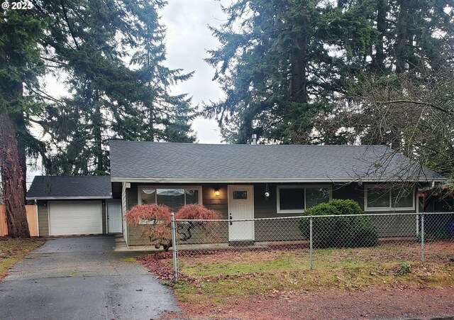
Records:
{"label": "patchy leaf-strewn grass strip along the chain-link fence, right of the driveway", "polygon": [[[180,302],[222,303],[248,295],[272,297],[326,289],[454,285],[453,242],[426,244],[425,263],[420,261],[418,244],[316,249],[313,270],[307,249],[183,253],[179,270],[184,280],[173,285]],[[171,270],[168,255],[154,259]]]}

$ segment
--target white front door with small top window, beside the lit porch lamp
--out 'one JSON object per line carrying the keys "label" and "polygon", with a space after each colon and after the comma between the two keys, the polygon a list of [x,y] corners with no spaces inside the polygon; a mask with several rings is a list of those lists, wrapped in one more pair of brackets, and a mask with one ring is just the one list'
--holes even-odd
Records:
{"label": "white front door with small top window, beside the lit porch lamp", "polygon": [[[254,186],[228,186],[228,219],[254,219]],[[228,241],[253,241],[254,221],[228,223]]]}

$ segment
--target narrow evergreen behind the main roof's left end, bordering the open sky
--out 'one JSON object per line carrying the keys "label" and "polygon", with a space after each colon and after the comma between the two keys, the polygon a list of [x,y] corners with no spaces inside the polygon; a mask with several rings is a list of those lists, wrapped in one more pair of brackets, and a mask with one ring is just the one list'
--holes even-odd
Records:
{"label": "narrow evergreen behind the main roof's left end, bordering the open sky", "polygon": [[140,32],[138,50],[131,59],[131,65],[138,67],[137,75],[143,86],[138,101],[143,111],[143,140],[194,142],[195,137],[189,126],[194,118],[191,110],[191,99],[187,94],[172,96],[169,87],[172,84],[186,81],[194,72],[182,73],[181,69],[170,70],[165,67],[165,28],[158,22],[157,8],[150,7],[138,11],[145,21],[145,28]]}

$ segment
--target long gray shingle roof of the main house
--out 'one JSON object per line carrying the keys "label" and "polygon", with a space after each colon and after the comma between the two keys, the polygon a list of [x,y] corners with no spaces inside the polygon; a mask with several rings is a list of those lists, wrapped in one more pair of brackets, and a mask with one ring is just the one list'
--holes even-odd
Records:
{"label": "long gray shingle roof of the main house", "polygon": [[113,181],[443,180],[384,145],[209,145],[111,140]]}

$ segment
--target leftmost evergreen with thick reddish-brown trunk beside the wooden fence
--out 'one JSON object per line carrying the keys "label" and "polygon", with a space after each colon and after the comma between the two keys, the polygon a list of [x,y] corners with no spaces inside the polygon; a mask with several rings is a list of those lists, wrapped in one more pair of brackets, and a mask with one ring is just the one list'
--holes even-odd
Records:
{"label": "leftmost evergreen with thick reddish-brown trunk beside the wooden fence", "polygon": [[29,237],[25,210],[26,121],[40,104],[31,91],[43,70],[37,40],[43,21],[27,11],[0,11],[0,167],[9,236]]}

